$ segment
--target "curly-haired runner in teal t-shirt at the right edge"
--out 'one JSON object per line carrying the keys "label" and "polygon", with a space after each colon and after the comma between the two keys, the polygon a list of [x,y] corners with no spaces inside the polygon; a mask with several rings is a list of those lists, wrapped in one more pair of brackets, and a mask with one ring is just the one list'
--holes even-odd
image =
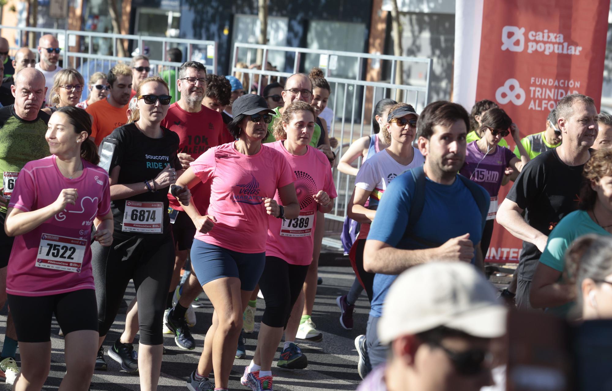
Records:
{"label": "curly-haired runner in teal t-shirt at the right edge", "polygon": [[562,317],[580,316],[571,314],[576,286],[568,281],[572,275],[565,270],[565,253],[583,235],[612,234],[612,149],[595,151],[584,164],[582,175],[578,210],[562,218],[548,236],[529,294],[533,308],[547,308],[547,312]]}

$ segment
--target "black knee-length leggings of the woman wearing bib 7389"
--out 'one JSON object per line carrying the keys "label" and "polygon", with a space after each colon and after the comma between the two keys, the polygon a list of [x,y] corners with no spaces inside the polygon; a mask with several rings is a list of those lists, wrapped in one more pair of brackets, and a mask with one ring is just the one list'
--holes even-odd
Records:
{"label": "black knee-length leggings of the woman wearing bib 7389", "polygon": [[292,265],[277,257],[266,257],[266,266],[259,278],[259,290],[266,301],[261,322],[270,327],[287,327],[307,273],[308,265]]}

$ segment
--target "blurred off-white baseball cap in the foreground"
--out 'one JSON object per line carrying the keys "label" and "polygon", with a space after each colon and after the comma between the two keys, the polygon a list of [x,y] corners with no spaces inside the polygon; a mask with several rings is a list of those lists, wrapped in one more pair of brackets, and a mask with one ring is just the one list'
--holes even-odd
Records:
{"label": "blurred off-white baseball cap in the foreground", "polygon": [[390,343],[439,326],[496,338],[506,333],[506,312],[496,289],[473,265],[431,262],[395,279],[378,321],[378,338]]}

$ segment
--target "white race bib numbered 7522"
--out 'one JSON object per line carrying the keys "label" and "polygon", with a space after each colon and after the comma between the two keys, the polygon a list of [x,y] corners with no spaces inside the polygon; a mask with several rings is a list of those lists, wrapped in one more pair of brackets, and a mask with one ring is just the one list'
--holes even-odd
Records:
{"label": "white race bib numbered 7522", "polygon": [[80,273],[86,240],[43,233],[36,267]]}

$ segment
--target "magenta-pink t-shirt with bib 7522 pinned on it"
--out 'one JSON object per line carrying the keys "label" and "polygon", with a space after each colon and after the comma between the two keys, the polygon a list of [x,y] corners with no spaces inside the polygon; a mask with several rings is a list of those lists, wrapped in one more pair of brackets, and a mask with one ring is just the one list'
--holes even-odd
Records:
{"label": "magenta-pink t-shirt with bib 7522 pinned on it", "polygon": [[110,210],[108,174],[83,162],[74,179],[59,172],[55,156],[28,162],[15,181],[9,208],[37,210],[58,199],[62,189],[77,189],[76,205],[68,204],[40,226],[15,237],[7,270],[6,291],[21,296],[47,296],[95,289],[91,271],[92,221]]}

